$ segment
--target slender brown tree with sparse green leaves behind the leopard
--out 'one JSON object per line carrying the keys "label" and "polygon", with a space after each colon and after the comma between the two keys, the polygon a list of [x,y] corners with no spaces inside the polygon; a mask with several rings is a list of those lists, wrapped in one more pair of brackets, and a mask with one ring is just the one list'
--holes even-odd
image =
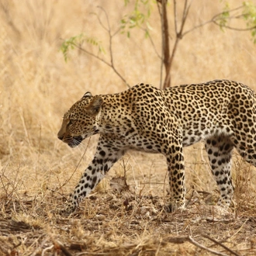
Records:
{"label": "slender brown tree with sparse green leaves behind the leopard", "polygon": [[[125,5],[128,5],[130,2],[129,0],[124,0]],[[99,15],[96,15],[99,24],[102,26],[102,29],[106,30],[109,36],[109,61],[100,57],[99,54],[94,54],[91,50],[88,50],[85,46],[86,43],[91,43],[92,45],[99,48],[99,53],[103,52],[104,49],[102,47],[102,43],[99,40],[95,40],[92,37],[85,36],[81,34],[79,36],[73,36],[68,40],[65,40],[62,44],[61,50],[64,53],[64,57],[67,60],[67,53],[70,48],[77,48],[83,51],[85,54],[91,55],[95,57],[98,61],[102,61],[104,64],[108,65],[112,70],[119,76],[119,78],[130,88],[128,81],[123,77],[121,72],[117,69],[114,63],[114,57],[112,54],[112,48],[114,47],[112,43],[112,38],[117,36],[119,32],[127,33],[127,38],[130,37],[130,30],[134,28],[141,29],[144,31],[145,35],[150,39],[151,46],[154,48],[154,52],[157,54],[161,61],[161,68],[160,68],[160,85],[159,88],[167,88],[171,85],[171,68],[173,67],[173,63],[175,61],[175,54],[178,50],[178,43],[180,40],[184,39],[184,37],[195,31],[195,29],[199,29],[202,26],[206,26],[210,23],[219,26],[220,29],[232,29],[239,31],[251,31],[251,36],[253,38],[254,43],[256,43],[256,5],[253,5],[250,2],[243,2],[242,5],[238,6],[237,8],[230,9],[228,5],[224,7],[223,12],[217,13],[211,19],[206,20],[198,25],[193,26],[191,29],[185,31],[185,22],[189,16],[189,10],[192,5],[192,0],[184,0],[183,1],[183,10],[182,16],[178,17],[177,12],[177,1],[172,0],[172,3],[168,4],[168,0],[157,0],[157,9],[159,12],[159,18],[161,20],[161,49],[157,49],[155,46],[153,38],[150,36],[150,31],[144,24],[150,20],[150,1],[144,0],[136,0],[134,4],[133,13],[126,15],[120,22],[120,26],[116,29],[116,31],[112,32],[110,29],[109,24],[109,16],[105,9],[102,7],[98,7],[101,12],[104,13],[106,19],[106,26],[104,25],[105,22],[102,22],[102,19]],[[147,15],[140,11],[140,5],[144,5],[147,9]],[[170,26],[168,17],[170,14],[168,12],[171,11],[172,8],[172,15],[174,17],[174,28],[175,28],[175,38],[174,41],[171,42],[170,37]],[[243,20],[243,27],[238,28],[231,26],[230,23],[234,19]],[[178,27],[178,23],[181,25]],[[161,52],[161,54],[159,54]],[[164,67],[164,68],[163,68]]]}

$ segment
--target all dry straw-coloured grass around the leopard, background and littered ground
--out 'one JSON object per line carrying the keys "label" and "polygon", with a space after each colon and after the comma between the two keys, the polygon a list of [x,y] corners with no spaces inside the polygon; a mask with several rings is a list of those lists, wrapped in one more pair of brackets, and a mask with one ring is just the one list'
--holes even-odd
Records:
{"label": "all dry straw-coloured grass around the leopard, background and littered ground", "polygon": [[[65,63],[61,43],[86,32],[107,49],[107,34],[90,12],[102,5],[115,29],[127,10],[122,1],[0,3],[0,254],[256,254],[255,169],[234,158],[234,206],[219,209],[213,206],[218,195],[201,144],[185,149],[188,209],[164,212],[164,157],[131,152],[74,215],[57,216],[55,210],[92,159],[97,140],[92,137],[74,150],[58,141],[62,115],[88,90],[126,89],[108,67],[79,51]],[[234,7],[239,3],[232,2]],[[219,3],[193,2],[186,26],[220,11]],[[152,35],[159,47],[157,9],[154,17]],[[114,44],[116,64],[131,85],[159,85],[160,64],[149,40],[134,31],[130,40],[116,36]],[[206,26],[182,40],[172,83],[228,78],[256,89],[255,56],[248,33]],[[124,170],[129,187],[117,192],[109,180]]]}

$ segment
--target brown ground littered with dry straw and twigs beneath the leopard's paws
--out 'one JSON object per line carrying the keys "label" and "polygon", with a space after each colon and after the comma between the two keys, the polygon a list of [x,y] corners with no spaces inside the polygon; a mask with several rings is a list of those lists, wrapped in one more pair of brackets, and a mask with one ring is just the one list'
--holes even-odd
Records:
{"label": "brown ground littered with dry straw and twigs beneath the leopard's paws", "polygon": [[[187,208],[167,213],[165,199],[136,195],[123,178],[95,192],[70,216],[64,197],[47,191],[2,198],[0,252],[5,255],[254,255],[254,202],[214,206],[209,192],[191,191]],[[110,182],[112,183],[112,181]],[[117,184],[117,185],[116,185]],[[241,197],[241,199],[243,196]],[[245,198],[245,195],[244,195]]]}

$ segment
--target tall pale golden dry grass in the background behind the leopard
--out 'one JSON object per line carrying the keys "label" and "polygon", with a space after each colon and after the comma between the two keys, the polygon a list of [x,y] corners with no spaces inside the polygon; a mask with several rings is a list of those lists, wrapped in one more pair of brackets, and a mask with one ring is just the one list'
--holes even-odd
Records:
{"label": "tall pale golden dry grass in the background behind the leopard", "polygon": [[[1,193],[8,194],[16,187],[18,194],[40,195],[46,187],[61,186],[71,176],[87,147],[88,140],[74,150],[57,140],[64,112],[87,91],[105,94],[126,89],[109,67],[81,51],[71,51],[65,63],[61,43],[79,33],[95,36],[105,46],[103,57],[108,59],[108,34],[92,12],[99,13],[104,21],[97,5],[106,9],[115,31],[121,17],[130,12],[131,7],[125,8],[122,1],[26,0],[20,3],[1,0],[0,3]],[[240,1],[232,1],[231,7],[237,5]],[[185,29],[221,11],[220,2],[214,5],[202,0],[193,2]],[[169,12],[171,17],[171,6]],[[150,20],[151,35],[160,51],[160,22],[155,6]],[[172,31],[171,21],[170,26]],[[174,34],[171,32],[170,36]],[[139,30],[133,29],[130,39],[123,34],[115,36],[113,55],[116,67],[130,85],[138,82],[159,85],[159,59],[150,40]],[[255,56],[256,46],[250,33],[222,32],[214,25],[204,26],[185,36],[178,46],[171,71],[172,84],[227,78],[256,89]],[[64,192],[71,191],[92,159],[95,141],[96,137],[89,141],[85,157]],[[210,190],[214,182],[200,147],[185,150],[188,186],[192,182],[201,189]],[[142,181],[149,184],[152,192],[163,191],[164,157],[131,153],[126,161],[130,164],[131,184],[137,188]],[[116,164],[113,169],[119,172],[120,168],[121,165]]]}

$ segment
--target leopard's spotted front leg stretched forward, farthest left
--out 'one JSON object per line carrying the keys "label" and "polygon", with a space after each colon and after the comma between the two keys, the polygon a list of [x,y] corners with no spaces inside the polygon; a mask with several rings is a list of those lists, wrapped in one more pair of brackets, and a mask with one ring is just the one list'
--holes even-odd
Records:
{"label": "leopard's spotted front leg stretched forward, farthest left", "polygon": [[111,144],[111,140],[106,141],[100,138],[95,157],[88,168],[85,169],[73,194],[68,199],[64,209],[65,213],[74,212],[79,202],[81,202],[81,199],[89,195],[92,189],[104,178],[106,172],[109,171],[112,165],[125,153],[125,150],[116,146],[111,147]]}

